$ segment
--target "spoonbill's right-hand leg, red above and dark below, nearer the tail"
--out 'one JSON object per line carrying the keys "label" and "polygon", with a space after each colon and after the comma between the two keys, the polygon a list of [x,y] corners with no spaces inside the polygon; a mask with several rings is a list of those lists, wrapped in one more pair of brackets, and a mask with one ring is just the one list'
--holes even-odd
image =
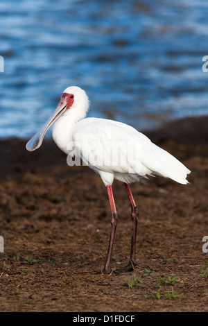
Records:
{"label": "spoonbill's right-hand leg, red above and dark below, nearer the tail", "polygon": [[137,261],[135,258],[135,247],[136,247],[136,239],[137,239],[137,223],[138,223],[138,218],[139,218],[139,211],[137,209],[137,206],[135,204],[135,200],[132,196],[132,191],[130,189],[130,185],[125,183],[125,188],[128,193],[128,198],[130,200],[130,205],[132,207],[132,213],[131,213],[131,218],[132,218],[132,241],[131,241],[131,252],[130,252],[130,261],[128,266],[129,267],[135,267],[137,266]]}

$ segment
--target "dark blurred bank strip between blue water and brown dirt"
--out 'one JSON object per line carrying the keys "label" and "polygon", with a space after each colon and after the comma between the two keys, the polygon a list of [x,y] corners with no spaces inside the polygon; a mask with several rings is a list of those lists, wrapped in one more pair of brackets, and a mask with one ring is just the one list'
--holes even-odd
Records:
{"label": "dark blurred bank strip between blue water and brown dirt", "polygon": [[[162,146],[170,141],[187,146],[208,146],[208,117],[190,117],[166,123],[156,130],[143,132],[155,144]],[[65,166],[66,155],[54,144],[53,139],[44,139],[42,147],[33,153],[26,151],[28,139],[11,137],[0,139],[0,178],[21,175],[25,171],[47,171],[53,166]],[[180,153],[180,156],[184,156]],[[69,175],[79,169],[68,169]]]}

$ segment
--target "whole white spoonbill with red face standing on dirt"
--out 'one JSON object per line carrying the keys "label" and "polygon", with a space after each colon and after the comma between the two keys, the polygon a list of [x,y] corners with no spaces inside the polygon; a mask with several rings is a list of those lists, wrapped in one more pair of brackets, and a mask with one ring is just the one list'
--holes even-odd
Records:
{"label": "whole white spoonbill with red face standing on dirt", "polygon": [[[103,273],[111,273],[110,261],[118,215],[112,183],[124,182],[132,208],[132,241],[128,267],[137,266],[135,246],[139,212],[130,190],[130,183],[162,175],[183,185],[189,183],[191,171],[173,155],[153,144],[148,137],[125,123],[108,119],[85,118],[89,108],[87,94],[80,87],[64,90],[58,107],[44,126],[26,144],[28,151],[35,151],[42,144],[46,130],[53,126],[55,144],[69,158],[83,160],[101,176],[110,200],[111,232]],[[70,165],[70,164],[69,164]]]}

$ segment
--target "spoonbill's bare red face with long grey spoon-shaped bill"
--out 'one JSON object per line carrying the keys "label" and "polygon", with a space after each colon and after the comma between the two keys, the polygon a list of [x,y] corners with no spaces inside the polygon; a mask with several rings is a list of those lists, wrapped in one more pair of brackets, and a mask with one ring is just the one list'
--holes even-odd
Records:
{"label": "spoonbill's bare red face with long grey spoon-shaped bill", "polygon": [[55,120],[58,119],[66,110],[71,108],[73,102],[74,102],[73,94],[68,94],[68,93],[62,94],[58,106],[53,112],[53,114],[51,115],[51,117],[49,118],[49,120],[46,121],[44,126],[26,144],[26,148],[28,151],[30,152],[35,151],[35,149],[41,146],[46,130],[48,130],[49,127],[55,122]]}

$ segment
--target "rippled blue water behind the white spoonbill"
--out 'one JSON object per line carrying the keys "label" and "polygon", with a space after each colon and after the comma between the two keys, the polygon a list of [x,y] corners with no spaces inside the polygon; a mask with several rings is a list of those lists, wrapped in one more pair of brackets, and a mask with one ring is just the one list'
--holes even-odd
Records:
{"label": "rippled blue water behind the white spoonbill", "polygon": [[207,0],[1,1],[0,137],[31,137],[70,85],[138,130],[208,114],[207,17]]}

